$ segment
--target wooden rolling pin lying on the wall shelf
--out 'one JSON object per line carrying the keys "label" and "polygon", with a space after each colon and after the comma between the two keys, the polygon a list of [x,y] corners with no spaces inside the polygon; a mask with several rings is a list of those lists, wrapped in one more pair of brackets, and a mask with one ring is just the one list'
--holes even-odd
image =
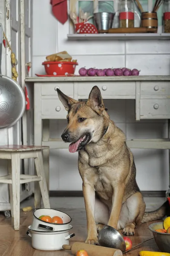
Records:
{"label": "wooden rolling pin lying on the wall shelf", "polygon": [[99,30],[99,33],[110,33],[110,34],[127,34],[127,33],[156,33],[157,29],[148,29],[148,28],[118,28],[118,29],[108,29],[108,30]]}

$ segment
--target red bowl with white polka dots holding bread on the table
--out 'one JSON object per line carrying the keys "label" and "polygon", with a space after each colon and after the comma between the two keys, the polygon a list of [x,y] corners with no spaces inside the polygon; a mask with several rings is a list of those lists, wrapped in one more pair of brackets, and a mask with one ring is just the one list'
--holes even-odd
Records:
{"label": "red bowl with white polka dots holding bread on the table", "polygon": [[46,74],[49,76],[66,76],[75,73],[75,67],[78,63],[68,61],[44,61],[42,65],[44,65]]}

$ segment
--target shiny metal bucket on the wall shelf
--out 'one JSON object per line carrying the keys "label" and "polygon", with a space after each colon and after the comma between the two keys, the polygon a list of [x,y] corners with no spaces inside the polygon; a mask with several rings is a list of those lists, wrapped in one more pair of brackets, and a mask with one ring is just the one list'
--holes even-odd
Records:
{"label": "shiny metal bucket on the wall shelf", "polygon": [[94,15],[95,26],[98,30],[107,30],[112,28],[115,13],[96,12]]}

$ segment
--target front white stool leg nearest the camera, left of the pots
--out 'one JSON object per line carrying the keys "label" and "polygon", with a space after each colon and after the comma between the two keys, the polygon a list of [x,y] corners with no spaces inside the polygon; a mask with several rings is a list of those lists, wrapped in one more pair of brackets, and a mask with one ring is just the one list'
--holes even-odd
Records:
{"label": "front white stool leg nearest the camera, left of the pots", "polygon": [[20,153],[12,153],[12,198],[14,230],[20,229]]}

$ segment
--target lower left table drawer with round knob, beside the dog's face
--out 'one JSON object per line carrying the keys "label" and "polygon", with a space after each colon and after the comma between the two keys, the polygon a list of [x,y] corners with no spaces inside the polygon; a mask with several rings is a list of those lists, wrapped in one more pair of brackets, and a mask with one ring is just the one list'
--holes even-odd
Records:
{"label": "lower left table drawer with round knob, beside the dog's face", "polygon": [[67,111],[59,99],[42,99],[42,116],[66,119]]}

